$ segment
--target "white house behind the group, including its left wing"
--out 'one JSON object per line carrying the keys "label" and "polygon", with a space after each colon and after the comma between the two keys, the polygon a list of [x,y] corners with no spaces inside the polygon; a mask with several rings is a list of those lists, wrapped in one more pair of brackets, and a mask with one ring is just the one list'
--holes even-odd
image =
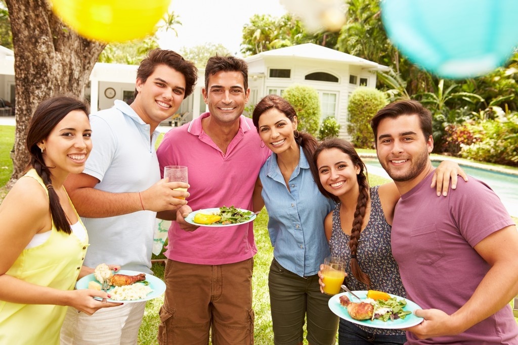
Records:
{"label": "white house behind the group, including its left wing", "polygon": [[[11,103],[15,96],[14,54],[0,46],[0,98]],[[294,83],[314,87],[321,101],[322,118],[336,116],[340,135],[347,137],[347,104],[349,95],[360,85],[376,87],[376,72],[388,67],[353,55],[312,43],[280,48],[244,59],[249,65],[250,101],[252,106],[268,94],[282,95]],[[182,102],[179,113],[187,113],[183,122],[206,111],[202,88],[205,70],[198,71],[198,82],[191,96]],[[91,108],[110,108],[114,99],[133,100],[137,66],[96,63],[85,95]]]}

